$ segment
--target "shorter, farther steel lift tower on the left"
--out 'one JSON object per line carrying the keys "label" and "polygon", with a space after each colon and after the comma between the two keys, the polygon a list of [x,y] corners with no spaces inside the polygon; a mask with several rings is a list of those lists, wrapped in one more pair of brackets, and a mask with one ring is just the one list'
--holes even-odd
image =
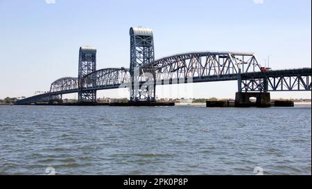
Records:
{"label": "shorter, farther steel lift tower on the left", "polygon": [[83,78],[96,71],[96,48],[80,47],[78,63],[78,102],[96,102],[96,90],[83,91]]}

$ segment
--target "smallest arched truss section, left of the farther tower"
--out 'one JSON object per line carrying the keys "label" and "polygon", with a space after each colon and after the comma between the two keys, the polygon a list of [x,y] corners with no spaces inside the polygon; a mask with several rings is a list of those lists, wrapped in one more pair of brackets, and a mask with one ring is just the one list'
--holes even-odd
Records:
{"label": "smallest arched truss section, left of the farther tower", "polygon": [[78,78],[60,78],[51,84],[50,93],[78,89]]}

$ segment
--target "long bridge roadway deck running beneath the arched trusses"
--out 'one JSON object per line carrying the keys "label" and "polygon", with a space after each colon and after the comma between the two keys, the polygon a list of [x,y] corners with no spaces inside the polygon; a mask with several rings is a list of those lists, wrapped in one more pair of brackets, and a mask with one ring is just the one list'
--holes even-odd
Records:
{"label": "long bridge roadway deck running beneath the arched trusses", "polygon": [[[305,77],[305,80],[302,78]],[[205,77],[195,77],[192,78],[191,83],[198,83],[198,82],[218,82],[218,81],[231,81],[231,80],[263,80],[267,78],[269,81],[270,79],[280,78],[281,80],[285,80],[284,78],[294,78],[295,82],[297,83],[297,87],[291,86],[291,84],[286,84],[283,88],[282,82],[277,82],[275,84],[269,84],[270,89],[266,89],[266,91],[311,91],[311,68],[304,68],[304,69],[285,69],[285,70],[275,70],[275,71],[264,71],[264,72],[250,72],[250,73],[239,73],[239,74],[227,74],[227,75],[210,75]],[[161,82],[156,82],[156,85],[164,85],[164,84],[181,84],[187,83],[188,78],[176,78],[176,79],[167,79],[161,80]],[[128,79],[127,79],[128,80]],[[279,81],[281,81],[279,80]],[[130,81],[130,80],[128,80]],[[129,86],[129,83],[114,83],[114,84],[96,84],[95,86],[85,87],[83,91],[89,90],[105,90],[105,89],[118,89],[120,85],[123,84],[123,87]],[[140,85],[144,84],[141,82]],[[294,84],[292,84],[294,85]],[[277,90],[277,87],[280,87]],[[259,87],[259,86],[258,86]],[[248,91],[248,90],[246,90]],[[257,91],[254,89],[252,91]],[[261,90],[260,90],[261,91]],[[51,99],[51,96],[60,96],[69,93],[77,93],[78,92],[78,85],[76,89],[69,89],[69,90],[62,90],[62,91],[55,91],[50,93],[43,93],[37,96],[32,96],[30,98],[25,98],[22,100],[17,101],[17,105],[26,105],[31,104],[34,102],[41,102],[41,101],[48,101]]]}

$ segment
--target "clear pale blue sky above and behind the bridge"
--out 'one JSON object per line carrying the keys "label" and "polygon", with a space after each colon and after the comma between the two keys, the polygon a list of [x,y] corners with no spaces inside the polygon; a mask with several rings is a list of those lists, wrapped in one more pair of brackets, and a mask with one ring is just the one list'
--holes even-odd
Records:
{"label": "clear pale blue sky above and behind the bridge", "polygon": [[[98,48],[98,69],[129,66],[131,26],[153,28],[156,58],[251,51],[263,64],[272,54],[274,69],[311,66],[310,0],[46,1],[0,0],[0,98],[33,96],[58,78],[76,77],[80,46]],[[236,86],[193,84],[193,97],[233,98]],[[272,95],[311,98],[311,92]]]}

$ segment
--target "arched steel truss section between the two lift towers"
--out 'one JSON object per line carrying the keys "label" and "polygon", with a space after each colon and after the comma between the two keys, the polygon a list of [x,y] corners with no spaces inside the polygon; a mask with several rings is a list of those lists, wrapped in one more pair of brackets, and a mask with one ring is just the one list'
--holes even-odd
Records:
{"label": "arched steel truss section between the two lift towers", "polygon": [[101,69],[89,73],[84,78],[85,89],[98,89],[103,87],[118,87],[120,84],[130,82],[129,69]]}

